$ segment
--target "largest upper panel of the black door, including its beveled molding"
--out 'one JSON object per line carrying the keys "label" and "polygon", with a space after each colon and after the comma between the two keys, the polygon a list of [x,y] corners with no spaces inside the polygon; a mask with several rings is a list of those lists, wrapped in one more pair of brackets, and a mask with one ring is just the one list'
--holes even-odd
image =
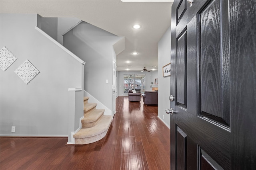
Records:
{"label": "largest upper panel of the black door, including its beveled molding", "polygon": [[[224,4],[224,3],[222,3]],[[229,92],[222,93],[222,89],[229,89],[228,62],[222,63],[221,57],[229,61],[229,55],[222,55],[222,51],[228,51],[228,47],[222,46],[222,28],[220,20],[220,1],[208,4],[198,14],[200,33],[200,115],[229,127],[229,110],[223,110],[229,104]],[[228,10],[227,10],[228,11]],[[226,61],[224,60],[224,61]],[[224,87],[224,88],[222,88]],[[226,96],[225,101],[221,100]],[[223,105],[223,106],[222,106]]]}

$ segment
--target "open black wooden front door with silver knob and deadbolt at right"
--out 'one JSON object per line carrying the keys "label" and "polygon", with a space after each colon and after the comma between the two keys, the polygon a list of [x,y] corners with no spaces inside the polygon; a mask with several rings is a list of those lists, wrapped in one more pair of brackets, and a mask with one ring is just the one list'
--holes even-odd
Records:
{"label": "open black wooden front door with silver knob and deadbolt at right", "polygon": [[171,170],[256,169],[256,1],[172,5]]}

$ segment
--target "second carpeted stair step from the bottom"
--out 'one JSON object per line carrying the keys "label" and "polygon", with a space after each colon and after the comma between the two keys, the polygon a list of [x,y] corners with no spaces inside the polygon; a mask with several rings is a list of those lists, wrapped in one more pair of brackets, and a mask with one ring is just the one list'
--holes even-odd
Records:
{"label": "second carpeted stair step from the bottom", "polygon": [[84,118],[81,120],[82,128],[89,128],[96,125],[104,113],[105,109],[94,109],[84,115]]}

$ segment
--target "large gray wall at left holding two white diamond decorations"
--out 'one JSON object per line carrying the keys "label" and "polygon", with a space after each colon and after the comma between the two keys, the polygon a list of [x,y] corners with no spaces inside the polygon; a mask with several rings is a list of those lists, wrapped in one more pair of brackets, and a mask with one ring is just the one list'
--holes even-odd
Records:
{"label": "large gray wall at left holding two white diamond decorations", "polygon": [[[0,70],[0,134],[67,136],[68,88],[81,88],[82,64],[35,29],[36,14],[0,17],[0,48],[18,58]],[[14,73],[26,59],[40,71],[28,84]]]}

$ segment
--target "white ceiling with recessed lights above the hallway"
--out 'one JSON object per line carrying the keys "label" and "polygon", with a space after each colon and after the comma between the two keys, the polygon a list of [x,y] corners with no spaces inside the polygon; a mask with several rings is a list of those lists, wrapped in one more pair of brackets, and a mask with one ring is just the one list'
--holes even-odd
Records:
{"label": "white ceiling with recessed lights above the hallway", "polygon": [[[121,0],[0,0],[1,13],[74,17],[124,36],[125,50],[117,55],[117,70],[158,69],[158,41],[170,27],[171,6],[172,2]],[[134,24],[141,28],[132,28]],[[134,51],[138,55],[132,55]]]}

